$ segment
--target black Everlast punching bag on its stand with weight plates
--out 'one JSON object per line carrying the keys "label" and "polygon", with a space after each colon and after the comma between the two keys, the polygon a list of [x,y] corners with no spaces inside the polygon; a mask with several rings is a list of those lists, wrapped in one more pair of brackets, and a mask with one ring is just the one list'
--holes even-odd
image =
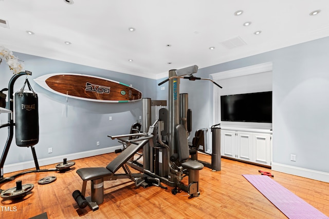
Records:
{"label": "black Everlast punching bag on its stand with weight plates", "polygon": [[[17,78],[20,76],[26,75],[25,84],[19,92],[16,92],[14,95],[13,88],[14,83]],[[33,172],[48,172],[48,171],[59,171],[66,172],[70,170],[70,167],[75,165],[75,162],[66,161],[66,158],[63,159],[62,163],[56,165],[54,169],[40,169],[38,159],[36,158],[36,153],[34,149],[34,145],[39,142],[39,115],[38,115],[38,95],[32,90],[27,76],[32,75],[32,72],[25,71],[20,72],[19,74],[15,74],[11,77],[8,84],[8,108],[1,108],[0,112],[8,113],[8,123],[0,125],[0,128],[8,127],[8,138],[6,145],[4,147],[1,160],[0,160],[0,168],[1,168],[1,177],[0,184],[5,183],[7,181],[13,181],[15,177],[23,175],[25,173],[33,173]],[[25,85],[28,85],[29,90],[24,90]],[[15,106],[14,106],[15,99]],[[13,114],[15,113],[15,122],[13,120]],[[9,152],[9,148],[14,136],[14,126],[16,128],[15,136],[16,136],[16,145],[20,147],[31,147],[33,160],[35,164],[35,170],[29,170],[21,173],[17,173],[10,177],[4,177],[4,164],[6,157]],[[55,176],[49,176],[42,178],[38,181],[39,184],[48,184],[56,180]],[[33,189],[32,184],[22,185],[22,181],[16,182],[16,187],[11,189],[2,190],[1,197],[2,198],[19,198],[26,195],[27,192]]]}

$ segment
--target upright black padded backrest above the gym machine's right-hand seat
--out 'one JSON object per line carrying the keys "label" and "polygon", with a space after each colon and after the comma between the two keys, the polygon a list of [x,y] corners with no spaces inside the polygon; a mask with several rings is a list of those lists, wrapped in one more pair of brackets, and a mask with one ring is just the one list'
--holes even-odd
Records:
{"label": "upright black padded backrest above the gym machine's right-hand seat", "polygon": [[190,158],[189,142],[187,140],[186,130],[181,124],[175,127],[175,143],[179,155],[179,162],[188,160],[188,158]]}

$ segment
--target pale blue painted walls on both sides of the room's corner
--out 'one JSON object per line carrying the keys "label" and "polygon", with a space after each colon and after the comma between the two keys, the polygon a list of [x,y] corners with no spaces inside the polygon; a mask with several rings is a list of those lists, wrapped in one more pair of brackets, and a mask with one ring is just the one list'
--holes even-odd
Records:
{"label": "pale blue painted walls on both sides of the room's corner", "polygon": [[[209,77],[222,71],[272,62],[273,88],[273,163],[329,173],[329,37],[278,49],[235,61],[199,69],[197,76]],[[25,61],[31,78],[53,72],[74,72],[102,76],[141,90],[144,97],[168,99],[168,83],[158,86],[162,79],[112,72],[52,59],[17,54]],[[12,74],[0,65],[0,88],[8,86]],[[24,78],[16,82],[15,90]],[[108,134],[129,132],[141,112],[141,102],[133,104],[104,104],[78,101],[52,94],[30,80],[39,94],[40,142],[36,145],[39,158],[94,150],[118,145]],[[248,82],[246,82],[248,83]],[[165,87],[165,90],[161,90]],[[181,80],[180,93],[189,93],[189,108],[193,111],[193,128],[209,127],[213,122],[213,89],[208,81]],[[108,121],[113,116],[113,121]],[[0,114],[2,124],[7,114]],[[193,130],[193,131],[194,131]],[[7,130],[0,130],[1,145]],[[96,147],[96,141],[101,145]],[[53,153],[48,154],[47,148]],[[1,149],[3,147],[0,147]],[[296,154],[296,162],[290,154]],[[5,164],[32,160],[29,149],[12,144]]]}

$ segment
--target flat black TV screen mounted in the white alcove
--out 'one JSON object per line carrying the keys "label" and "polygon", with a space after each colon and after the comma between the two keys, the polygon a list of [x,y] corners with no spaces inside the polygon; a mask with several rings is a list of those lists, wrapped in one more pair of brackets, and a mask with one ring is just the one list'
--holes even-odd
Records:
{"label": "flat black TV screen mounted in the white alcove", "polygon": [[272,91],[221,96],[221,120],[272,123]]}

